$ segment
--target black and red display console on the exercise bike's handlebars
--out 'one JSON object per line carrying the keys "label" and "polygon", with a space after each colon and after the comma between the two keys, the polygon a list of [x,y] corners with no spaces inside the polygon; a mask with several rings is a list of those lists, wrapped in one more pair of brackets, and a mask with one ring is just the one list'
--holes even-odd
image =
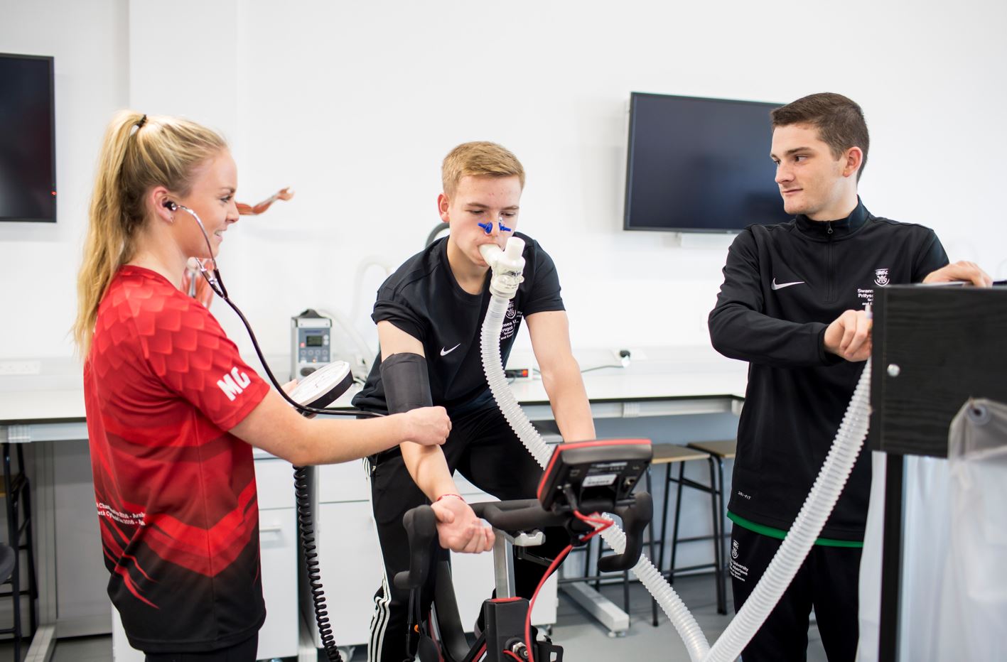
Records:
{"label": "black and red display console on the exercise bike's handlebars", "polygon": [[554,512],[611,512],[632,502],[652,457],[649,439],[558,444],[539,483],[539,501]]}

